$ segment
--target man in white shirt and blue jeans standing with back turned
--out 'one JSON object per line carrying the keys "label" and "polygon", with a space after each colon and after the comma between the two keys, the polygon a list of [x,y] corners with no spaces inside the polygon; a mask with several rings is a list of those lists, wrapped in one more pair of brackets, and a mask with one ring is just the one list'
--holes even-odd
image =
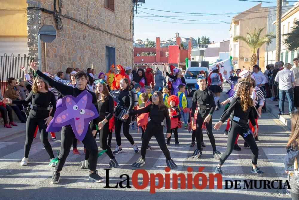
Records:
{"label": "man in white shirt and blue jeans standing with back turned", "polygon": [[274,81],[279,83],[279,115],[284,115],[284,100],[285,97],[289,102],[289,114],[292,115],[294,111],[294,96],[293,88],[295,88],[295,79],[293,72],[290,70],[292,65],[290,63],[284,64],[284,69],[277,72]]}

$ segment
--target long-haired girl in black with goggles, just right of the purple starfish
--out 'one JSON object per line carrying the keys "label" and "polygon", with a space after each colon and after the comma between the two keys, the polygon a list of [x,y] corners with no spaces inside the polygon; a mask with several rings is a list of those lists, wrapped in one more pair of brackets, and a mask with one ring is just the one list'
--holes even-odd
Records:
{"label": "long-haired girl in black with goggles, just right of the purple starfish", "polygon": [[[100,134],[100,145],[103,150],[107,150],[106,154],[111,159],[109,162],[110,168],[115,168],[118,165],[118,162],[115,160],[115,156],[113,156],[111,148],[107,145],[107,138],[109,135],[109,120],[113,116],[114,111],[114,102],[113,97],[110,95],[107,87],[107,83],[103,79],[97,79],[94,81],[96,85],[96,96],[97,96],[97,107],[99,109],[99,124],[98,130],[94,134],[94,138],[97,137],[97,133]],[[93,127],[94,123],[91,121],[90,127]],[[80,167],[81,169],[88,168],[88,159],[89,159],[89,151],[86,150],[85,160],[81,161]]]}

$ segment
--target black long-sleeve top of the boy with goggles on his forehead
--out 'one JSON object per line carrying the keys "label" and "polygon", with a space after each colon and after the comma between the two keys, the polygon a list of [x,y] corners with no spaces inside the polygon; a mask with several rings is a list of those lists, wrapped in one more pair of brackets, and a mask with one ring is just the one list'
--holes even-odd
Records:
{"label": "black long-sleeve top of the boy with goggles on his forehead", "polygon": [[213,92],[208,90],[207,88],[205,90],[196,90],[193,94],[192,98],[192,110],[191,110],[191,117],[194,117],[195,109],[196,109],[196,103],[198,103],[199,106],[211,106],[210,109],[201,108],[198,109],[197,117],[205,118],[208,114],[213,114],[213,112],[216,109],[216,104],[213,97]]}

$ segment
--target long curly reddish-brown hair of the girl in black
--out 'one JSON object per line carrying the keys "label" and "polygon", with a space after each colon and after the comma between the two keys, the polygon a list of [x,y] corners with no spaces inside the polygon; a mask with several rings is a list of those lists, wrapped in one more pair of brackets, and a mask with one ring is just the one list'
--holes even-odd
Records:
{"label": "long curly reddish-brown hair of the girl in black", "polygon": [[236,96],[241,98],[240,103],[242,106],[242,110],[245,112],[248,109],[248,106],[253,106],[253,100],[250,98],[252,83],[250,82],[242,82],[239,85],[239,90]]}

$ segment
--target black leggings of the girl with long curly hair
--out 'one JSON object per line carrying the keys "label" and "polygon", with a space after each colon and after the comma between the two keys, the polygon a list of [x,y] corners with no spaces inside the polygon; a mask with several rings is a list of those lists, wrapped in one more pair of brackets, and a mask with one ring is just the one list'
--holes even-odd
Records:
{"label": "black leggings of the girl with long curly hair", "polygon": [[225,160],[229,157],[229,155],[231,155],[231,152],[234,149],[235,141],[237,139],[238,134],[240,136],[242,136],[242,138],[245,140],[245,142],[247,142],[247,144],[250,146],[250,149],[252,152],[251,153],[252,164],[254,164],[254,165],[257,164],[257,158],[259,156],[259,148],[257,147],[257,143],[255,142],[252,134],[249,134],[246,137],[243,136],[244,130],[245,130],[245,128],[243,128],[243,126],[241,124],[232,120],[231,129],[229,131],[228,139],[227,139],[227,148],[220,158],[219,165],[223,165]]}

